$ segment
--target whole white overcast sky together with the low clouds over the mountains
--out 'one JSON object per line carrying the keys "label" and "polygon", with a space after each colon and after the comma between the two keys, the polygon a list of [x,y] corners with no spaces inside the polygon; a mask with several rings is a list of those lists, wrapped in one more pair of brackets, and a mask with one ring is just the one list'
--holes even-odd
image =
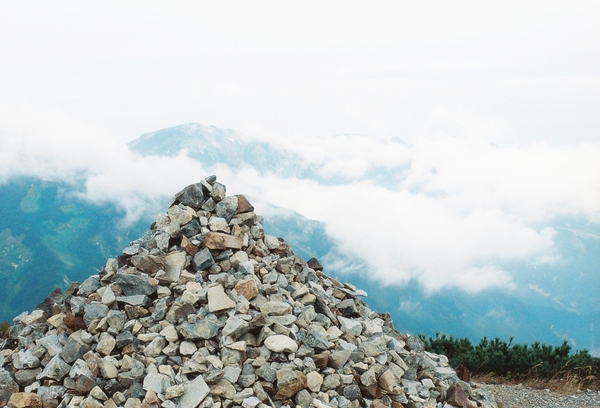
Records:
{"label": "whole white overcast sky together with the low clouds over the mountains", "polygon": [[[223,183],[431,290],[509,289],[502,263],[561,257],[556,219],[597,227],[599,113],[595,0],[0,3],[0,181],[85,172],[90,198],[135,216],[214,169],[125,142],[231,128],[351,181]],[[386,188],[364,180],[374,166],[409,171]]]}

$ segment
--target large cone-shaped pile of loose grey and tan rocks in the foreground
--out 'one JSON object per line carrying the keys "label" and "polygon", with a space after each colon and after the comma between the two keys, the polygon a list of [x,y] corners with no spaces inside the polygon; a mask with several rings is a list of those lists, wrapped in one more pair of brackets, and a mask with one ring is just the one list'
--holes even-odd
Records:
{"label": "large cone-shaped pile of loose grey and tan rocks in the foreground", "polygon": [[116,259],[14,319],[0,406],[496,407],[208,177]]}

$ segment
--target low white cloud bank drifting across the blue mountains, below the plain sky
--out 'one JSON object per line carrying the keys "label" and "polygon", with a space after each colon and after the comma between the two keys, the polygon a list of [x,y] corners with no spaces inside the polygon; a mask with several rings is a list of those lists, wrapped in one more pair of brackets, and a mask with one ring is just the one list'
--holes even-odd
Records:
{"label": "low white cloud bank drifting across the blue mountains, below the plain sky", "polygon": [[[85,198],[114,203],[132,222],[214,173],[229,193],[323,221],[340,250],[364,260],[382,282],[416,280],[429,292],[510,290],[515,271],[504,265],[560,259],[552,227],[558,217],[600,223],[600,175],[593,171],[600,144],[499,145],[437,132],[410,143],[336,136],[299,145],[311,165],[350,180],[330,186],[250,168],[204,168],[184,152],[140,157],[109,132],[54,113],[35,121],[14,112],[2,117],[16,120],[0,123],[0,182],[22,175],[81,182]],[[404,170],[395,188],[368,177],[369,169],[398,166]],[[261,212],[261,202],[255,205]]]}

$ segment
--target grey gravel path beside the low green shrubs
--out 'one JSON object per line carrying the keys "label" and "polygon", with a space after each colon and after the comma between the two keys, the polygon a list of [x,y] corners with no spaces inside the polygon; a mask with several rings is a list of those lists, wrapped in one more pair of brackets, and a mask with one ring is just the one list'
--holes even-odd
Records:
{"label": "grey gravel path beside the low green shrubs", "polygon": [[482,384],[496,398],[498,408],[600,408],[600,391],[580,391],[563,395],[549,390],[536,390],[524,385]]}

